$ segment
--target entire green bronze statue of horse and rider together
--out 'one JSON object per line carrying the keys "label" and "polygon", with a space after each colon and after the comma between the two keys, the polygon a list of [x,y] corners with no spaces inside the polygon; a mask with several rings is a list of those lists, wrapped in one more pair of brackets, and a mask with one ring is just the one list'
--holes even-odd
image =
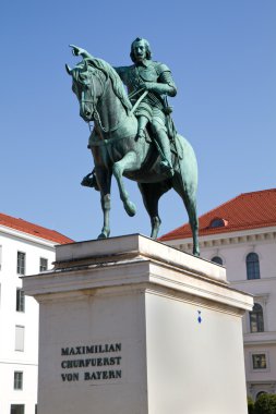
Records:
{"label": "entire green bronze statue of horse and rider together", "polygon": [[[160,226],[158,200],[173,188],[182,198],[193,233],[193,254],[199,255],[196,215],[197,165],[193,148],[176,131],[167,102],[177,88],[169,68],[152,60],[147,40],[131,45],[130,66],[112,68],[86,50],[71,45],[83,60],[74,69],[72,89],[80,102],[80,115],[94,121],[88,148],[95,169],[82,184],[100,192],[104,226],[99,239],[110,234],[110,186],[115,175],[129,216],[135,206],[129,199],[122,176],[137,182],[156,239]],[[128,88],[127,95],[123,84]]]}

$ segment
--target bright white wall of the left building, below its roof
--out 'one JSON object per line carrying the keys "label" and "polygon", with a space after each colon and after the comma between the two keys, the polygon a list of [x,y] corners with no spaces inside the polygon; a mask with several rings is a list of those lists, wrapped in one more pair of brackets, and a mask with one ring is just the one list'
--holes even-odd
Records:
{"label": "bright white wall of the left building, below its roof", "polygon": [[[26,254],[25,275],[39,272],[40,257],[52,268],[53,243],[0,227],[0,413],[10,414],[11,404],[24,404],[35,414],[37,403],[38,304],[25,296],[25,312],[16,312],[17,252]],[[15,351],[15,326],[24,327],[24,351]],[[23,373],[23,389],[14,390],[14,372]]]}

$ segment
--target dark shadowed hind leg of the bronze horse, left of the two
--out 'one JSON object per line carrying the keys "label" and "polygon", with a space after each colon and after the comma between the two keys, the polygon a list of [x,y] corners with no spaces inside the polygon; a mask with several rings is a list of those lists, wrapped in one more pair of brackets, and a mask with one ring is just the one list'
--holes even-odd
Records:
{"label": "dark shadowed hind leg of the bronze horse, left of the two", "polygon": [[148,212],[152,223],[151,238],[156,239],[161,223],[158,214],[158,202],[160,196],[169,190],[164,183],[139,183],[144,206]]}

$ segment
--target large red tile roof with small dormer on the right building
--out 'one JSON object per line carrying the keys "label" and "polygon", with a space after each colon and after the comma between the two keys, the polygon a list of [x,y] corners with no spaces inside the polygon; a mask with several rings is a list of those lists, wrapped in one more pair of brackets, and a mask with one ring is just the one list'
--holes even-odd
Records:
{"label": "large red tile roof with small dormer on the right building", "polygon": [[[220,220],[220,227],[214,227]],[[276,226],[276,188],[240,194],[201,216],[200,235],[228,233],[240,230]],[[213,226],[212,226],[213,223]],[[159,238],[159,241],[189,239],[189,223]]]}

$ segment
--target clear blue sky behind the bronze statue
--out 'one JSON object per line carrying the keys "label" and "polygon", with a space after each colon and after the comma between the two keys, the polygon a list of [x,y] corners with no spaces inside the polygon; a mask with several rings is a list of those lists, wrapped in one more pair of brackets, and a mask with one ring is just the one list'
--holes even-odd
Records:
{"label": "clear blue sky behind the bronze statue", "polygon": [[[276,1],[15,0],[1,2],[0,211],[76,241],[101,228],[97,192],[80,181],[93,168],[88,127],[79,117],[64,63],[69,44],[113,65],[130,64],[145,37],[170,66],[178,131],[200,170],[199,214],[244,192],[275,187]],[[136,184],[129,218],[112,183],[111,235],[149,233]],[[160,234],[188,220],[172,192],[160,200]]]}

